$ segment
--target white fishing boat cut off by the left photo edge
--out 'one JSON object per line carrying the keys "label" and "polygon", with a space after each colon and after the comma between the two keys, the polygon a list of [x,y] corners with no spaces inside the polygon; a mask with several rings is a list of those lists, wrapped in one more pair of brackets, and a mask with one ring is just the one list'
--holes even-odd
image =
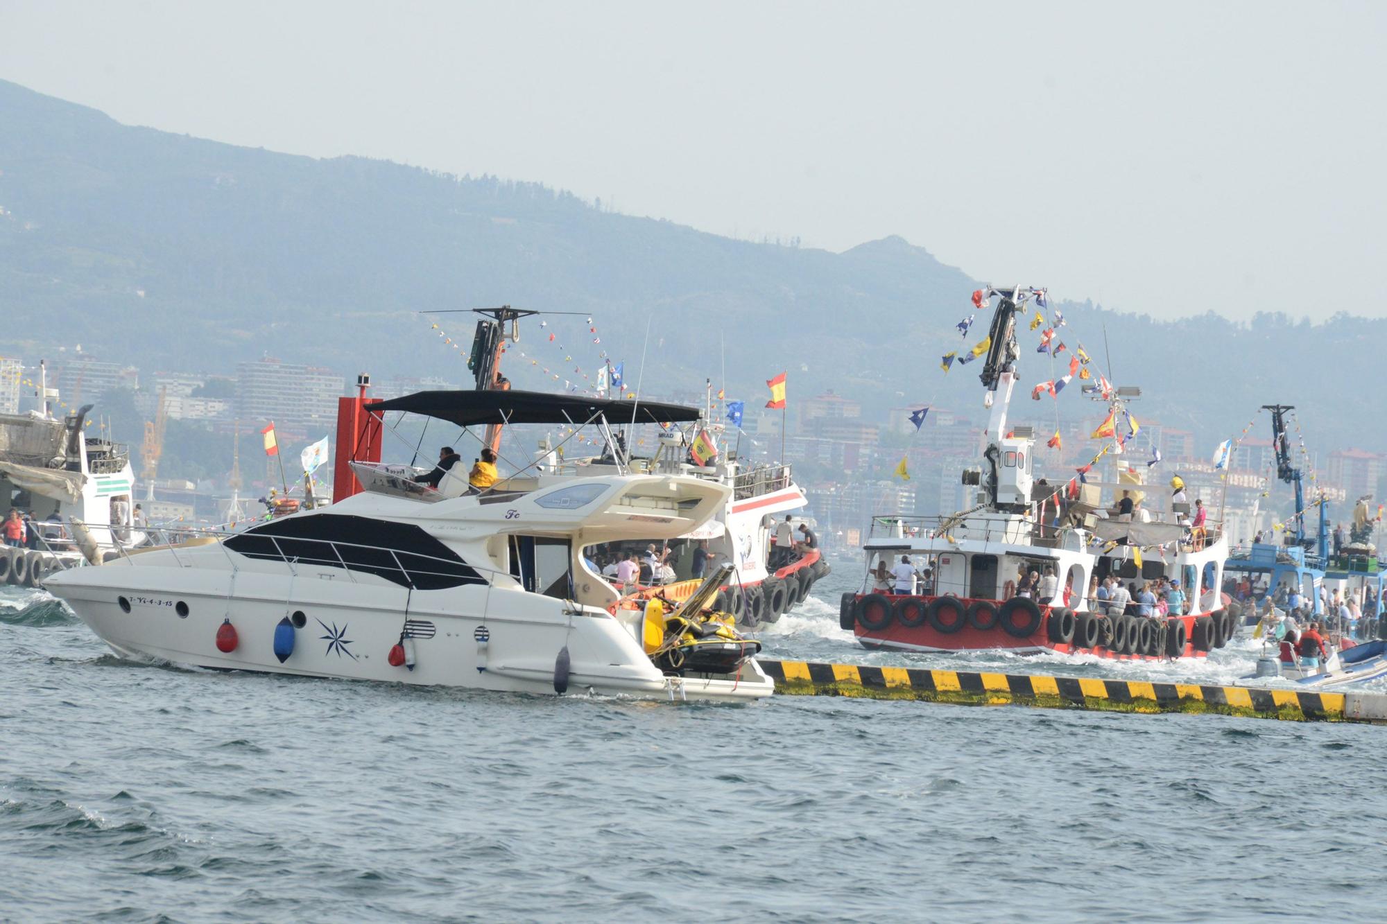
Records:
{"label": "white fishing boat cut off by the left photo edge", "polygon": [[39,365],[40,409],[0,415],[0,497],[4,515],[28,517],[29,544],[0,549],[0,583],[39,587],[55,572],[114,555],[144,540],[130,498],[135,469],[125,444],[86,434],[90,404],[53,415],[58,390]]}

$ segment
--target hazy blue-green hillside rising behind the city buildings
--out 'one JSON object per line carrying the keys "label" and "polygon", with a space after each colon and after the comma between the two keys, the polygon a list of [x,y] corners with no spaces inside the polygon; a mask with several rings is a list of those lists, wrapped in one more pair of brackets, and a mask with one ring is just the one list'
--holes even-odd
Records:
{"label": "hazy blue-green hillside rising behind the city buildings", "polygon": [[[939,370],[978,283],[899,237],[842,254],[731,240],[534,183],[125,126],[6,82],[0,125],[4,352],[82,343],[146,370],[229,370],[269,354],[344,375],[463,380],[458,355],[413,312],[512,304],[591,314],[601,347],[581,318],[553,319],[571,365],[591,369],[606,348],[634,380],[645,350],[648,388],[716,380],[725,361],[728,391],[752,400],[789,369],[792,400],[831,387],[874,416],[927,400],[982,415],[976,366]],[[1107,329],[1117,377],[1144,387],[1146,415],[1209,447],[1276,400],[1301,407],[1326,451],[1387,448],[1363,426],[1384,416],[1372,380],[1384,320],[1239,325],[1207,311],[1216,307],[1171,305],[1186,318],[1157,322],[1058,307],[1064,336],[1090,352]],[[470,337],[470,320],[447,323]],[[528,334],[520,350],[566,365],[538,329]],[[1049,377],[1039,359],[1022,357],[1024,383]],[[546,384],[519,358],[508,372],[523,387]],[[1067,419],[1094,411],[1061,402]]]}

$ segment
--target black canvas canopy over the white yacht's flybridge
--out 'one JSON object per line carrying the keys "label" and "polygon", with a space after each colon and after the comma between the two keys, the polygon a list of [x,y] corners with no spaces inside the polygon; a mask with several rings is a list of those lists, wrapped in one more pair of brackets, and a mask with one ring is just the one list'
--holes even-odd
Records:
{"label": "black canvas canopy over the white yacht's flybridge", "polygon": [[587,423],[598,415],[616,426],[698,420],[699,409],[659,401],[609,401],[542,391],[419,391],[388,401],[368,401],[368,411],[405,411],[462,427],[484,423]]}

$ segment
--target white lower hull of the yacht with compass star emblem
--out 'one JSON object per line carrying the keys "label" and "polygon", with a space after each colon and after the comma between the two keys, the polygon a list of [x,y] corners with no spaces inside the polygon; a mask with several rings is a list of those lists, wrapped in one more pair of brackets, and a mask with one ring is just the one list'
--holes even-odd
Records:
{"label": "white lower hull of the yacht with compass star emblem", "polygon": [[[64,572],[47,587],[117,655],[136,660],[548,695],[745,701],[774,688],[755,660],[738,677],[667,677],[617,619],[565,601],[537,612],[533,594],[361,583],[344,604],[343,583],[307,567],[284,576],[108,565]],[[283,659],[282,620],[293,628]],[[236,645],[221,651],[227,622]],[[390,663],[397,644],[409,651],[406,663]]]}

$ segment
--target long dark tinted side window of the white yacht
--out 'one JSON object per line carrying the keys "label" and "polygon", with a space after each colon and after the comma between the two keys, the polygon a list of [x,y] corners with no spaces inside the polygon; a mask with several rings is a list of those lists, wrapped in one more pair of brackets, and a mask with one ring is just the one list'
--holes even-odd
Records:
{"label": "long dark tinted side window of the white yacht", "polygon": [[485,583],[456,552],[417,526],[368,516],[312,513],[270,520],[226,540],[226,548],[247,558],[287,558],[365,572],[416,590]]}

